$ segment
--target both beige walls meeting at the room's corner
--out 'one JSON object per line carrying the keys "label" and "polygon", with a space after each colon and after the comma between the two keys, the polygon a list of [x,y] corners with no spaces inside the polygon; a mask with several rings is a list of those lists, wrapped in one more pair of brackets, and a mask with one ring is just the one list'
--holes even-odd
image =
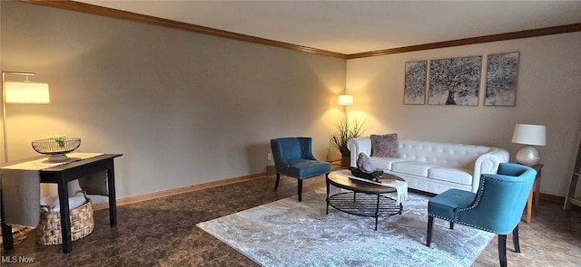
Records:
{"label": "both beige walls meeting at the room's corner", "polygon": [[[2,70],[36,72],[52,98],[7,107],[9,159],[35,156],[30,141],[48,135],[83,138],[80,151],[124,154],[119,197],[264,172],[275,137],[311,136],[328,159],[346,76],[348,111],[368,119],[366,134],[497,146],[514,158],[514,125],[547,125],[541,192],[565,195],[581,130],[581,33],[346,62],[25,3],[1,9]],[[478,107],[402,104],[405,62],[486,63],[497,52],[520,52],[516,107],[482,97]]]}

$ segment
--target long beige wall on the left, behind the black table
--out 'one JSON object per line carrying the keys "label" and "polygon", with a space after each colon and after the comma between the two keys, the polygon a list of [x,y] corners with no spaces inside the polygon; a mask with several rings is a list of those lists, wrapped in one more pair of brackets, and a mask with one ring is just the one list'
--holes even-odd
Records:
{"label": "long beige wall on the left, behind the black table", "polygon": [[263,173],[271,138],[310,136],[327,159],[343,116],[342,59],[25,3],[3,1],[1,20],[2,70],[51,90],[7,107],[9,159],[80,137],[79,151],[123,153],[119,197]]}

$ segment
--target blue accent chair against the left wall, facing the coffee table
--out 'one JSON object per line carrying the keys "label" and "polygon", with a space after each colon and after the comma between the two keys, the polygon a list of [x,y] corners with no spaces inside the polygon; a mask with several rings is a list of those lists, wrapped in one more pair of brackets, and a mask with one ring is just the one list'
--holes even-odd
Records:
{"label": "blue accent chair against the left wall, facing the coffee table", "polygon": [[302,180],[330,173],[330,163],[318,161],[312,156],[312,138],[274,138],[271,139],[276,185],[279,187],[281,175],[299,180],[299,201],[302,196]]}

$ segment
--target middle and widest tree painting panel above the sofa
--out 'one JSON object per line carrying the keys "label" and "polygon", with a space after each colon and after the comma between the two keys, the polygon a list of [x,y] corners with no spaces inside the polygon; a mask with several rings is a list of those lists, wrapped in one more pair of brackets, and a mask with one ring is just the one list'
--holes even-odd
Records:
{"label": "middle and widest tree painting panel above the sofa", "polygon": [[429,105],[478,106],[482,57],[429,63]]}

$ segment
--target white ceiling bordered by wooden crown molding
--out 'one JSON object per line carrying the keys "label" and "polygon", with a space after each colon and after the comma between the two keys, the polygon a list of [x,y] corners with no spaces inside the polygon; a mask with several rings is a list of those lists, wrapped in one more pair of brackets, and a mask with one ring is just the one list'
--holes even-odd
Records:
{"label": "white ceiling bordered by wooden crown molding", "polygon": [[581,23],[581,1],[77,1],[330,52]]}

